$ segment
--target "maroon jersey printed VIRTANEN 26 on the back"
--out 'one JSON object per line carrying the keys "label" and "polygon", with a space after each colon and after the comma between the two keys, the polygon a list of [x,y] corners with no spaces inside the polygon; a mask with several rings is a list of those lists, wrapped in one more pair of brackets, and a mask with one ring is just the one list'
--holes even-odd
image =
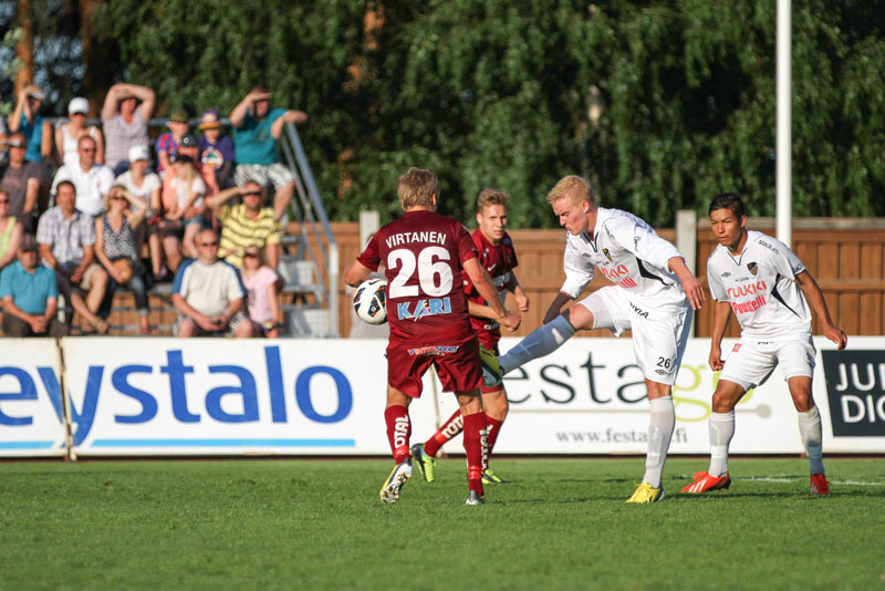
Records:
{"label": "maroon jersey printed VIRTANEN 26 on the back", "polygon": [[384,226],[357,260],[375,271],[384,262],[391,340],[442,344],[472,334],[462,265],[476,258],[460,221],[421,209]]}

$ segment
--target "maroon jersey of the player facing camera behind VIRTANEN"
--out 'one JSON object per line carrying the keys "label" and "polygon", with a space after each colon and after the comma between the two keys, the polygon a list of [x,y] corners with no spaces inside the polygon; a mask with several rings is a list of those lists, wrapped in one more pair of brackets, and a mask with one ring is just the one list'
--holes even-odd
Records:
{"label": "maroon jersey of the player facing camera behind VIRTANEN", "polygon": [[[513,277],[513,269],[519,265],[517,251],[513,249],[513,241],[510,239],[510,235],[504,232],[501,240],[497,245],[492,245],[479,229],[475,230],[470,237],[479,251],[479,263],[489,272],[491,282],[494,283],[498,296],[501,298],[501,303],[503,303],[507,297],[507,284],[510,283],[510,278]],[[481,305],[488,305],[467,276],[464,278],[464,292],[467,294],[468,300]],[[486,349],[490,350],[497,346],[498,341],[501,340],[501,326],[494,320],[470,317],[470,325],[479,333],[479,342]]]}

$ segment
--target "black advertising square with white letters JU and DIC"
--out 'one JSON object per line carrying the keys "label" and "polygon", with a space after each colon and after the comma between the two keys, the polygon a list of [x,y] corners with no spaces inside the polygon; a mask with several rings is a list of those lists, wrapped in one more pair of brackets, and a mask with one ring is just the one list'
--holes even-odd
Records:
{"label": "black advertising square with white letters JU and DIC", "polygon": [[885,436],[885,352],[821,351],[836,437]]}

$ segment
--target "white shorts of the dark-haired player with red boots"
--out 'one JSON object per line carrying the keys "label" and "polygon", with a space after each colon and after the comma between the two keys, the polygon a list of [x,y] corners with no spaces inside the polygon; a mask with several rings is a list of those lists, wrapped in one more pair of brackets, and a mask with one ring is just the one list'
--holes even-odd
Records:
{"label": "white shorts of the dark-haired player with red boots", "polygon": [[726,359],[719,380],[727,380],[745,391],[759,386],[768,380],[775,365],[781,366],[784,380],[814,375],[814,357],[818,350],[811,335],[794,341],[748,341],[741,339]]}

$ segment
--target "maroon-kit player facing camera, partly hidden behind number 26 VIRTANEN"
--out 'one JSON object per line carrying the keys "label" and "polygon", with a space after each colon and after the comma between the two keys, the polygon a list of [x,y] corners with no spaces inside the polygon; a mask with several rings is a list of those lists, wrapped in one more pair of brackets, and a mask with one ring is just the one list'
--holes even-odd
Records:
{"label": "maroon-kit player facing camera, partly hidden behind number 26 VIRTANEN", "polygon": [[[479,263],[491,277],[501,303],[503,303],[507,292],[512,291],[519,309],[525,312],[529,309],[529,298],[520,287],[517,274],[513,271],[519,262],[517,252],[513,249],[513,241],[506,231],[508,199],[509,196],[498,189],[483,189],[479,194],[477,198],[477,225],[479,227],[473,231],[471,238],[479,252]],[[498,341],[501,340],[501,329],[494,318],[494,312],[469,278],[465,278],[464,283],[470,312],[470,325],[476,331],[480,344],[491,351],[492,354],[498,355]],[[500,384],[493,386],[482,384],[481,393],[482,409],[486,413],[486,423],[488,425],[489,456],[491,456],[501,425],[507,417],[509,404],[507,393]],[[418,468],[425,480],[428,483],[435,480],[436,465],[434,457],[439,452],[439,448],[461,433],[462,428],[464,417],[460,409],[458,409],[424,445],[415,444],[412,447],[412,455],[418,463]],[[483,484],[500,484],[502,481],[498,475],[486,466],[482,473]]]}

